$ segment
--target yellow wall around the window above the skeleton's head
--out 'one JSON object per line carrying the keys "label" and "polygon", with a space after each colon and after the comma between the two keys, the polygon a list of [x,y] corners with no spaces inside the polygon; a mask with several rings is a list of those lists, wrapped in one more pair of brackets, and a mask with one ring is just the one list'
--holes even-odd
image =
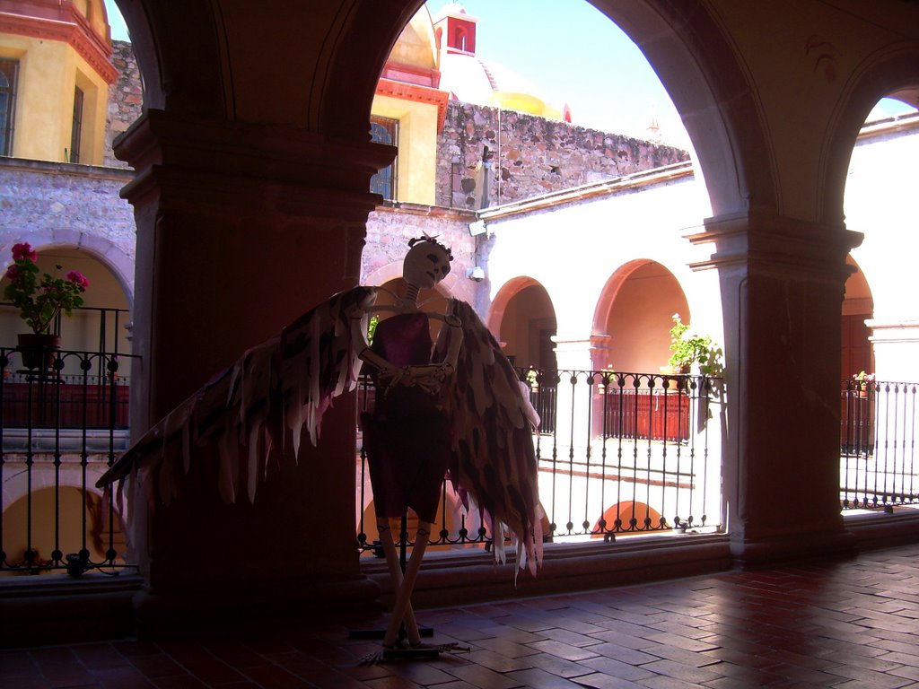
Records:
{"label": "yellow wall around the window above the skeleton's head", "polygon": [[437,106],[376,96],[371,115],[399,120],[396,200],[435,205]]}

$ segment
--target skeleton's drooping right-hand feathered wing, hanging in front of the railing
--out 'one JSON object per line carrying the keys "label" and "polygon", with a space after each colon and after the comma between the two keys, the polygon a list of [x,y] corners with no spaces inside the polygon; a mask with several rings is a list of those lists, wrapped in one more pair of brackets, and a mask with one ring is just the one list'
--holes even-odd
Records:
{"label": "skeleton's drooping right-hand feathered wing, hanging in front of the railing", "polygon": [[[506,525],[517,541],[517,563],[536,571],[542,559],[542,510],[533,447],[534,412],[514,367],[472,307],[450,299],[462,323],[454,385],[443,392],[452,431],[449,476],[492,522],[494,553],[504,559]],[[435,361],[448,352],[453,328],[441,328]],[[468,503],[466,505],[468,507]]]}

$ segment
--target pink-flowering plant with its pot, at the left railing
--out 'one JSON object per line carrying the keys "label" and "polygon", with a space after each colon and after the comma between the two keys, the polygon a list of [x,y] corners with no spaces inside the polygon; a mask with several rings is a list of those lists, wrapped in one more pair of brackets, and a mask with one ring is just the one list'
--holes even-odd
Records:
{"label": "pink-flowering plant with its pot, at the left railing", "polygon": [[51,325],[59,313],[73,315],[74,309],[83,305],[81,295],[89,287],[89,280],[75,270],[58,277],[60,265],[54,275],[42,273],[36,263],[38,257],[28,243],[14,244],[13,263],[6,268],[9,284],[3,292],[4,299],[13,303],[32,331],[18,335],[19,351],[28,368],[40,367],[49,354],[60,348],[61,338],[51,333]]}

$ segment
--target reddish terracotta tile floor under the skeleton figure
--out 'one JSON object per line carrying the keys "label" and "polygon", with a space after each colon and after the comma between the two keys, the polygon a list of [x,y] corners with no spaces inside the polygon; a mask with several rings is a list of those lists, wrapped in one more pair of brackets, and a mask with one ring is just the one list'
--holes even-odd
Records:
{"label": "reddish terracotta tile floor under the skeleton figure", "polygon": [[114,641],[0,651],[0,686],[919,686],[919,545],[418,617],[432,642],[470,652],[361,665],[379,642],[350,638],[345,626],[247,641]]}

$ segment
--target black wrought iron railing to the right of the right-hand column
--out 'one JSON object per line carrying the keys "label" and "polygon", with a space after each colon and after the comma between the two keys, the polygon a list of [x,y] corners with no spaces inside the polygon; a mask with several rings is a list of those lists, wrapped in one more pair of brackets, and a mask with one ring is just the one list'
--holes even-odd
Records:
{"label": "black wrought iron railing to the right of the right-hand column", "polygon": [[847,380],[840,424],[839,500],[844,510],[919,504],[919,384]]}

